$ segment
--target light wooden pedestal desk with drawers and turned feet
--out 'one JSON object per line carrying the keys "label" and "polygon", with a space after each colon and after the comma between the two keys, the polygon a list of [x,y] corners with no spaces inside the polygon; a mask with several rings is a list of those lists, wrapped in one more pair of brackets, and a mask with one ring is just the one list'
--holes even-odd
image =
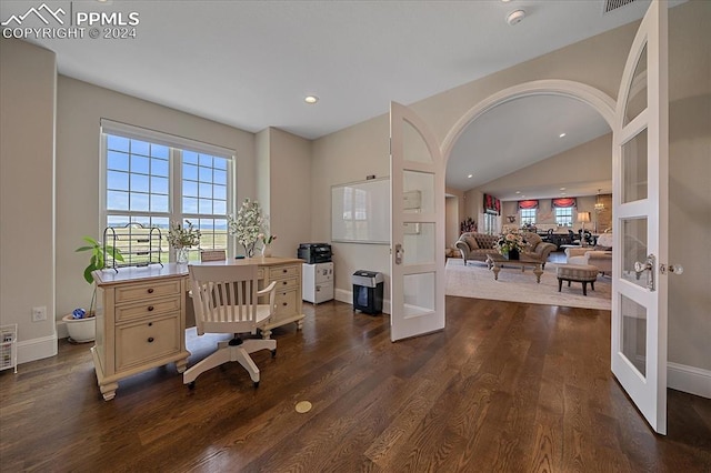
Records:
{"label": "light wooden pedestal desk with drawers and turned feet", "polygon": [[[266,286],[277,281],[277,310],[259,328],[264,339],[271,329],[294,322],[303,324],[301,310],[301,264],[296,258],[250,258],[212,261],[209,265],[258,264]],[[187,301],[188,265],[122,268],[94,271],[97,284],[97,333],[91,349],[99,389],[103,399],[116,396],[119,380],[151,368],[176,363],[186,371],[190,352],[186,328],[194,324],[192,304]]]}

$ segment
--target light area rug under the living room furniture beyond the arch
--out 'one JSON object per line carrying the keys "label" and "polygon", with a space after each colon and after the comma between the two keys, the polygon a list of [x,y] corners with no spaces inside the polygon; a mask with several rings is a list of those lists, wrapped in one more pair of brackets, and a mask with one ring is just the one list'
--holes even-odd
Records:
{"label": "light area rug under the living room furniture beyond the arch", "polygon": [[570,308],[611,310],[611,280],[598,275],[595,290],[588,285],[588,295],[582,295],[582,284],[563,282],[558,292],[555,264],[545,263],[541,274],[541,283],[535,282],[533,268],[504,268],[499,272],[499,280],[494,281],[493,272],[480,261],[470,261],[467,266],[462,259],[447,260],[447,295],[463,298],[491,299],[497,301],[527,302],[531,304],[562,305]]}

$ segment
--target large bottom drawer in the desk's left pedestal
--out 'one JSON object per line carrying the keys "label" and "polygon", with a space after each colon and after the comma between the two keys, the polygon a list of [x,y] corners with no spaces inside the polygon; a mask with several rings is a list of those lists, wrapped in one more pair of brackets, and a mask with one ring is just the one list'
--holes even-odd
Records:
{"label": "large bottom drawer in the desk's left pedestal", "polygon": [[167,316],[116,328],[116,369],[124,370],[180,352],[180,319]]}

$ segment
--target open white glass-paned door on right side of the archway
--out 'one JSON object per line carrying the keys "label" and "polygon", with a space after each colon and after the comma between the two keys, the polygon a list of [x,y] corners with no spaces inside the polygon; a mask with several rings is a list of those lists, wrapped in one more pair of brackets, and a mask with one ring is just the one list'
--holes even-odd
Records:
{"label": "open white glass-paned door on right side of the archway", "polygon": [[667,433],[667,2],[632,43],[612,128],[612,372],[651,427]]}

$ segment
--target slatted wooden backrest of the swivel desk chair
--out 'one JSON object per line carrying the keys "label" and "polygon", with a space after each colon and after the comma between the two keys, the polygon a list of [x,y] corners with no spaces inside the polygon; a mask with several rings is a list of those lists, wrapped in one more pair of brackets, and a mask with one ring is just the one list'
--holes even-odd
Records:
{"label": "slatted wooden backrest of the swivel desk chair", "polygon": [[198,334],[257,331],[258,266],[189,265]]}

